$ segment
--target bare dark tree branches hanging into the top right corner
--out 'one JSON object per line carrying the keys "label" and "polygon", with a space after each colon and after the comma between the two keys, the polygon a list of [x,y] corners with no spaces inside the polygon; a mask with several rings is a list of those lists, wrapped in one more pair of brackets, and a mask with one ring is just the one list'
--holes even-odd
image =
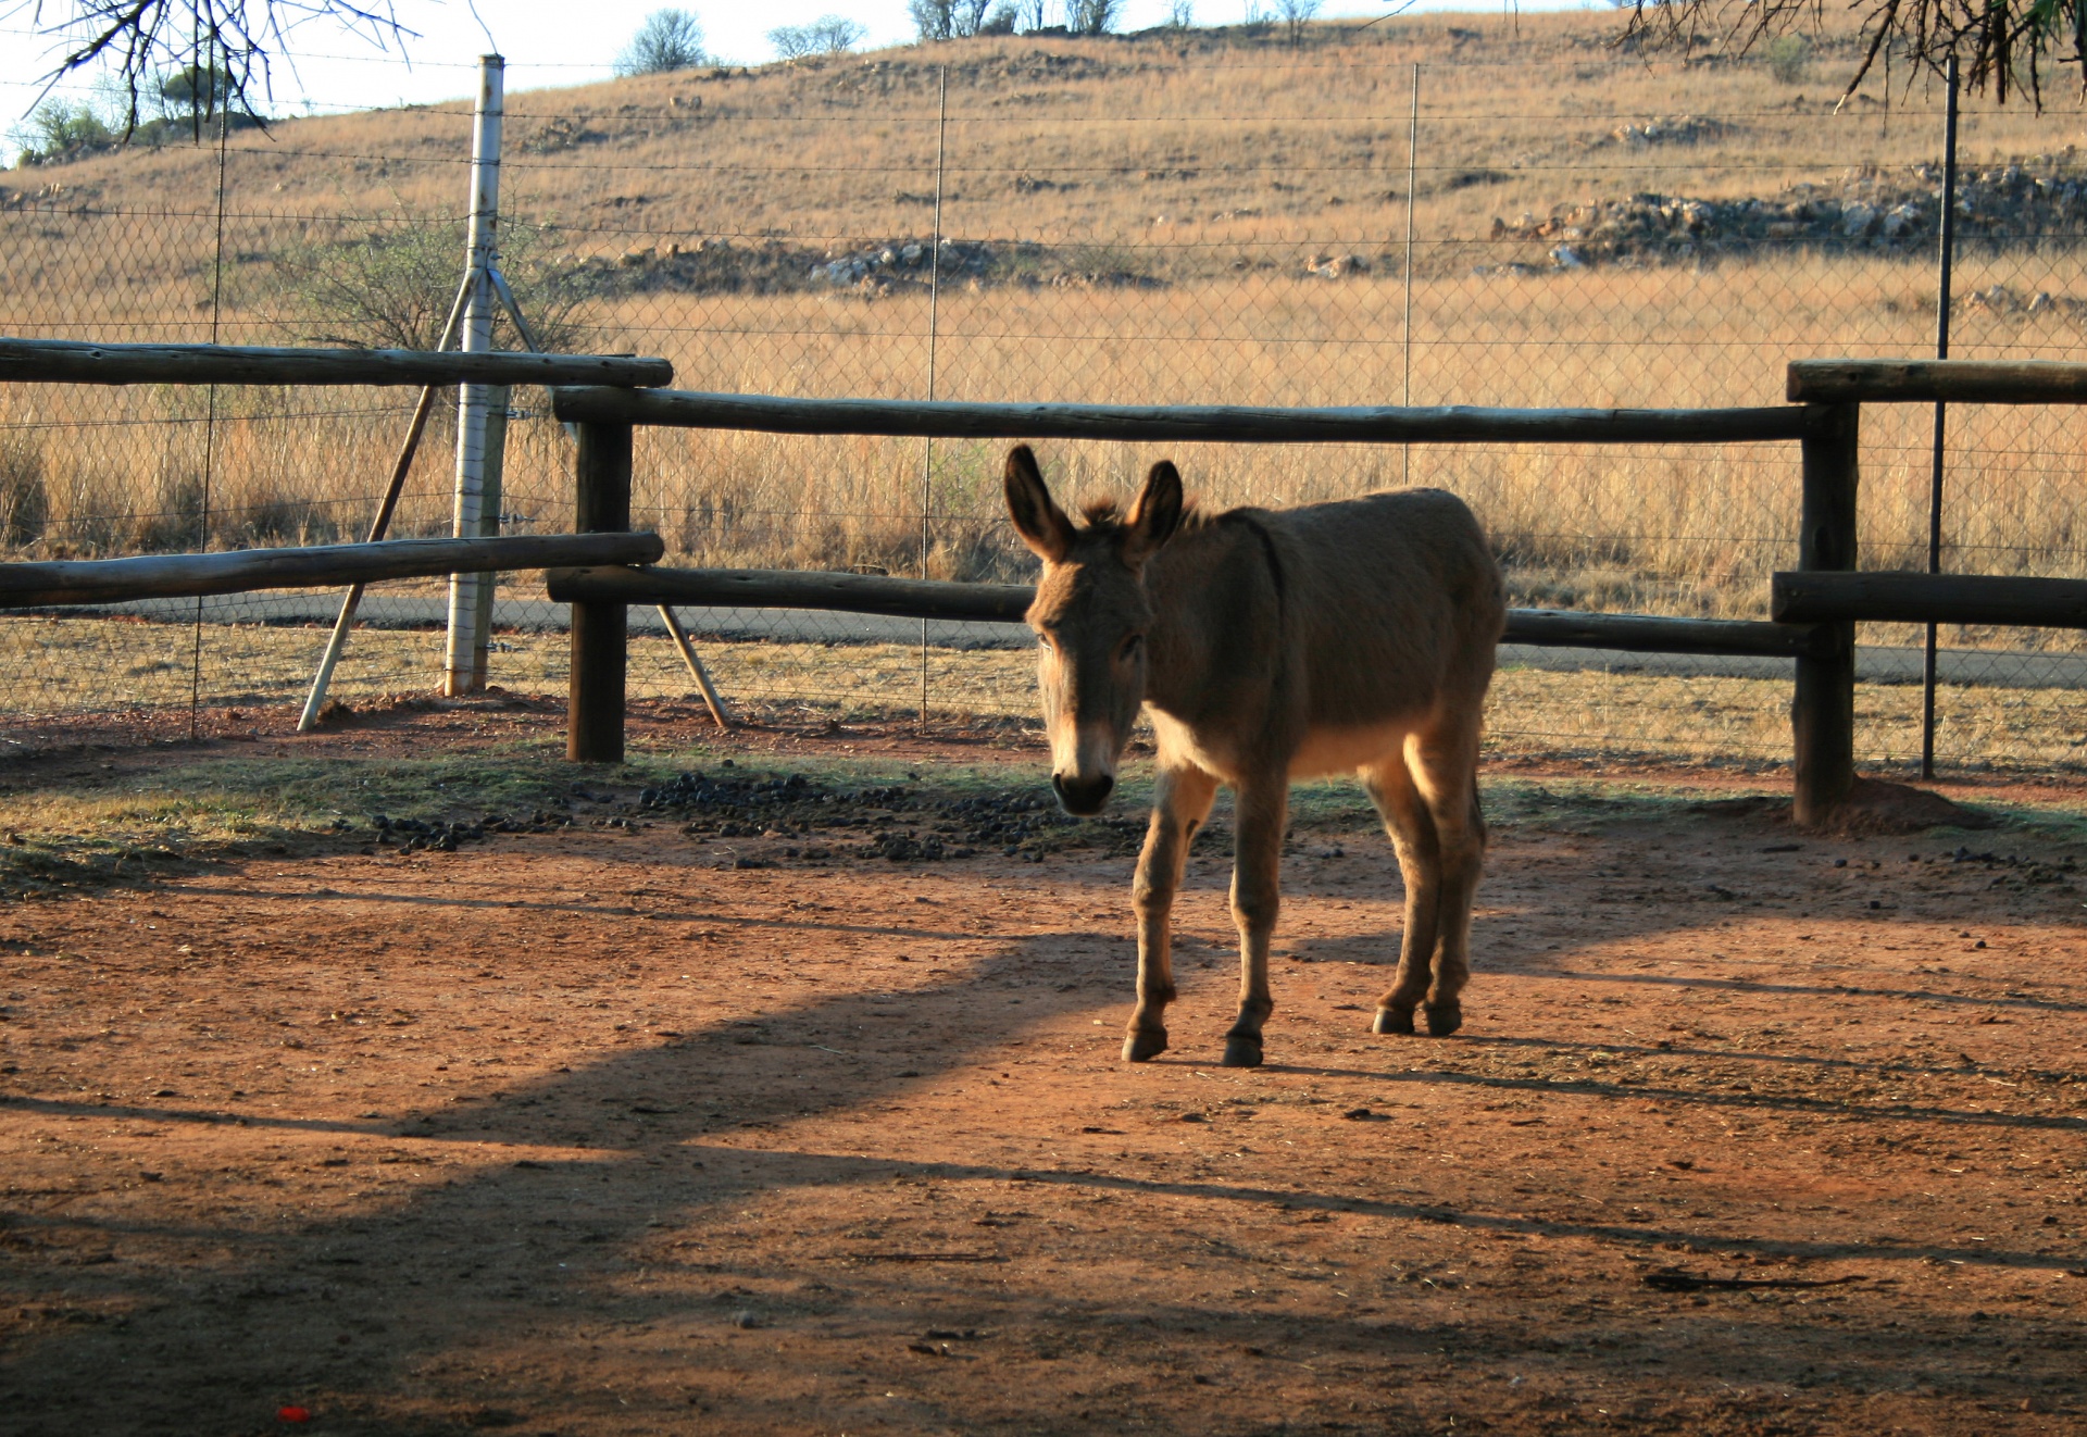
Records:
{"label": "bare dark tree branches hanging into the top right corner", "polygon": [[[1749,48],[1774,35],[1814,29],[1826,0],[1628,0],[1630,33],[1695,46],[1707,40]],[[1941,73],[1956,56],[1972,90],[2001,104],[2022,86],[2043,102],[2043,83],[2060,65],[2081,65],[2087,83],[2087,0],[1857,0],[1862,63],[1847,94],[1889,52]]]}

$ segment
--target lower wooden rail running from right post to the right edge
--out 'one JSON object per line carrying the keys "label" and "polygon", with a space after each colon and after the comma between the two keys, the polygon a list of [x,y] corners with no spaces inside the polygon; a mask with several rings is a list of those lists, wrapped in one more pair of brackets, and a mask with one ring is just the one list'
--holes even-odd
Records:
{"label": "lower wooden rail running from right post to the right edge", "polygon": [[1791,624],[2006,624],[2087,628],[2087,580],[1985,574],[1776,574],[1770,613]]}

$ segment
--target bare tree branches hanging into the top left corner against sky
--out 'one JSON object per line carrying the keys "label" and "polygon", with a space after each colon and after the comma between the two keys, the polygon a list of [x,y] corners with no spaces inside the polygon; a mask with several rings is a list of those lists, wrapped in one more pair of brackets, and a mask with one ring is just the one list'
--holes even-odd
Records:
{"label": "bare tree branches hanging into the top left corner against sky", "polygon": [[380,50],[405,46],[415,31],[399,23],[392,0],[21,0],[0,4],[0,15],[29,10],[31,25],[58,42],[61,58],[46,75],[56,83],[81,69],[109,67],[127,96],[125,133],[138,127],[140,106],[157,94],[169,71],[219,71],[209,104],[259,117],[271,92],[269,56],[280,54],[290,31],[311,21],[359,33]]}

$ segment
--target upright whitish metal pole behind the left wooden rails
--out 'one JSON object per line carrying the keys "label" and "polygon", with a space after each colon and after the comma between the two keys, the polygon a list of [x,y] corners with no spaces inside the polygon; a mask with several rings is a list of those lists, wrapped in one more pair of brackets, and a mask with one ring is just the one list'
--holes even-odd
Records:
{"label": "upright whitish metal pole behind the left wooden rails", "polygon": [[[472,221],[465,236],[465,257],[472,292],[463,302],[463,352],[493,348],[493,267],[499,263],[501,213],[501,100],[507,60],[497,54],[478,58],[478,111],[472,117]],[[493,386],[457,386],[457,505],[451,532],[457,538],[478,538],[484,528],[486,482],[486,407]],[[478,590],[490,584],[490,574],[449,576],[449,649],[442,659],[442,692],[449,697],[484,688],[486,676],[478,655],[486,636],[478,632]]]}

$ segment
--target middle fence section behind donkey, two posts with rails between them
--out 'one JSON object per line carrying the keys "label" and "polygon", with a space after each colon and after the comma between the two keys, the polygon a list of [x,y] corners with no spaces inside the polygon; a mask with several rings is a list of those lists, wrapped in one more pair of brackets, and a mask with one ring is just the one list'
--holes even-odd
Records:
{"label": "middle fence section behind donkey, two posts with rails between them", "polygon": [[[630,438],[639,423],[770,434],[883,434],[912,438],[1081,438],[1229,444],[1732,444],[1803,446],[1801,569],[1855,565],[1855,405],[1770,409],[1225,409],[1125,405],[958,405],[803,400],[760,394],[566,388],[553,413],[578,423],[574,528],[630,519]],[[1029,607],[1018,584],[943,584],[781,569],[574,567],[547,574],[553,601],[572,605],[572,695],[566,753],[580,763],[624,757],[624,611],[628,605],[841,609],[935,619],[1014,622]],[[1795,815],[1822,822],[1855,782],[1853,624],[1751,624],[1622,613],[1515,609],[1507,640],[1655,653],[1751,653],[1797,659],[1793,730]]]}

